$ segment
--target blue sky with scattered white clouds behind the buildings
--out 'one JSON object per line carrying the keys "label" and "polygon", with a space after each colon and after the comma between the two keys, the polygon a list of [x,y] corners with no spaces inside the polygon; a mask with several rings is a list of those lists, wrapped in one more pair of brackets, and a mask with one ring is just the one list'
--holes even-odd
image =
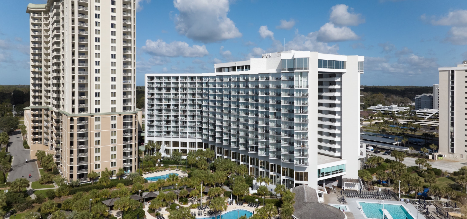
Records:
{"label": "blue sky with scattered white clouds behind the buildings", "polygon": [[[29,84],[28,3],[0,24],[0,84]],[[137,85],[144,73],[212,72],[213,64],[283,49],[365,56],[362,85],[438,83],[467,60],[461,0],[137,0]]]}

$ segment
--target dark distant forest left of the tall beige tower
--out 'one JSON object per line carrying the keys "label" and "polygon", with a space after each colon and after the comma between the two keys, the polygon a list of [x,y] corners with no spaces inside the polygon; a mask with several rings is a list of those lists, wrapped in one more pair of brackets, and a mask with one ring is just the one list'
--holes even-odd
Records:
{"label": "dark distant forest left of the tall beige tower", "polygon": [[16,112],[23,111],[29,106],[29,98],[29,85],[0,85],[0,117],[11,113],[13,104]]}

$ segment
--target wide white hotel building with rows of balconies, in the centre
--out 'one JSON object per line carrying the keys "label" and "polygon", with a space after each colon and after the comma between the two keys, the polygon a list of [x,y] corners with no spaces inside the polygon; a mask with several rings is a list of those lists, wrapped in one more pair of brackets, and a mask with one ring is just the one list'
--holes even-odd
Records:
{"label": "wide white hotel building with rows of balconies, in the centre", "polygon": [[289,188],[355,182],[363,61],[284,51],[215,64],[214,73],[146,74],[145,141],[167,156],[210,148]]}

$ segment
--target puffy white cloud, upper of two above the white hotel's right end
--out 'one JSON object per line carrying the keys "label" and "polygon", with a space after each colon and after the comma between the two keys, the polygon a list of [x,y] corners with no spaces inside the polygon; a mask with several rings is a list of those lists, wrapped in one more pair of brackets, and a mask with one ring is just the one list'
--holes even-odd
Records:
{"label": "puffy white cloud, upper of two above the white hotel's right end", "polygon": [[355,14],[354,9],[344,4],[331,7],[331,16],[329,20],[337,26],[357,26],[365,22],[365,18],[361,14]]}

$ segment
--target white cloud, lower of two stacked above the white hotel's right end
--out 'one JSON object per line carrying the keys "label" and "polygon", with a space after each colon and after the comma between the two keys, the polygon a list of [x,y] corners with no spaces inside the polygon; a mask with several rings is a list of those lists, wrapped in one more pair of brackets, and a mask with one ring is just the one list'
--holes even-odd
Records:
{"label": "white cloud, lower of two stacked above the white hotel's right end", "polygon": [[335,27],[333,23],[325,23],[318,30],[317,40],[320,42],[340,42],[358,40],[360,37],[348,27]]}

